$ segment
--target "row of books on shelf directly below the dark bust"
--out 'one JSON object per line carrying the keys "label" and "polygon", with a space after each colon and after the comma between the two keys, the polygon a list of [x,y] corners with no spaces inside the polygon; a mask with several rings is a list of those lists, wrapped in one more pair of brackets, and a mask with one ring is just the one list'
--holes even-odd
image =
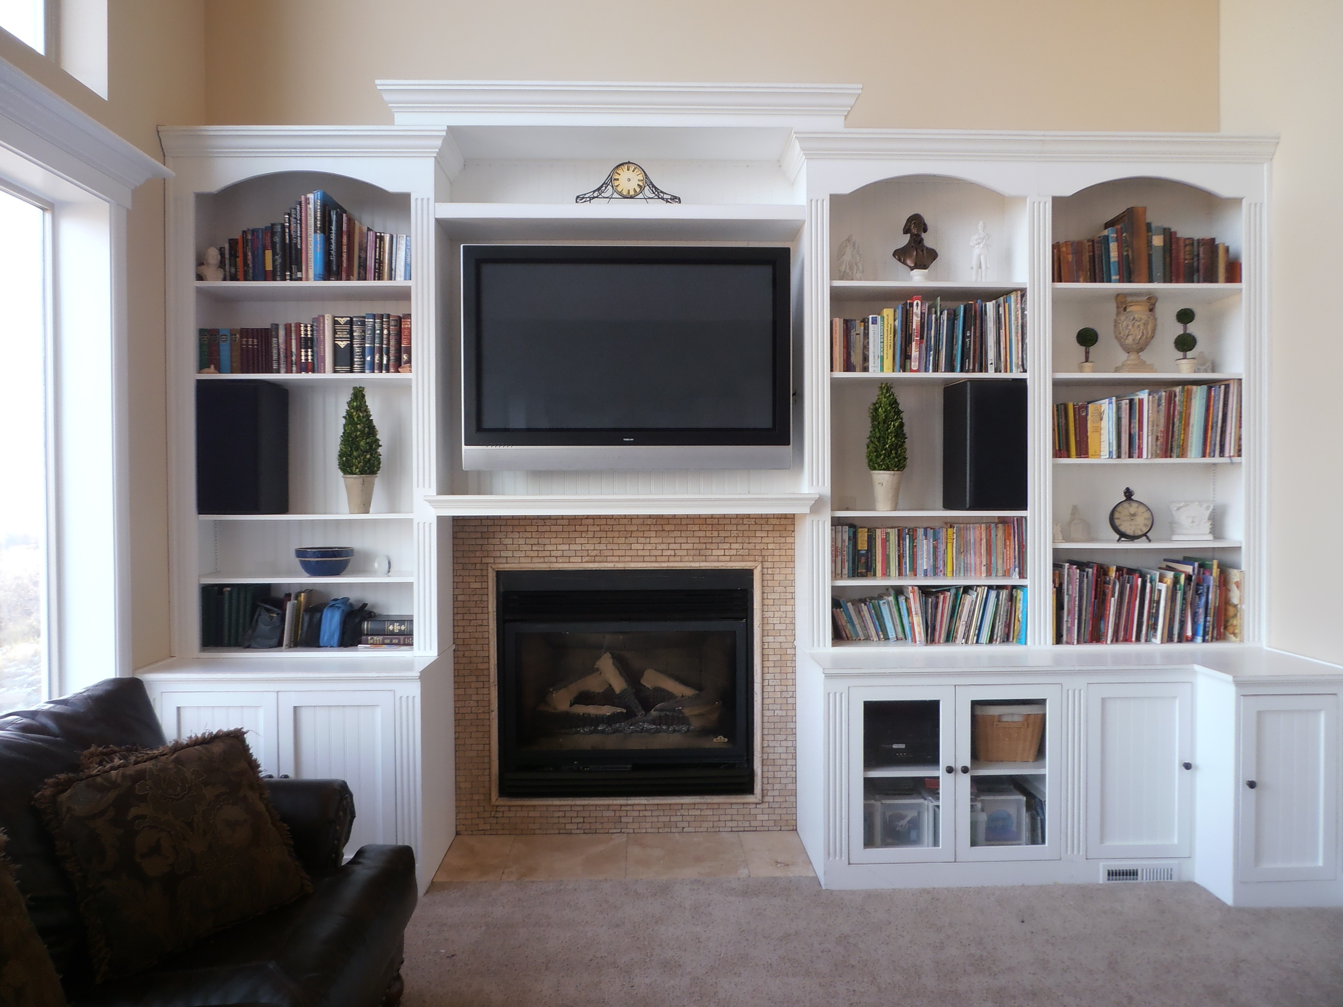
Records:
{"label": "row of books on shelf directly below the dark bust", "polygon": [[866,373],[1026,372],[1026,293],[943,307],[912,297],[865,318],[830,320],[830,369]]}

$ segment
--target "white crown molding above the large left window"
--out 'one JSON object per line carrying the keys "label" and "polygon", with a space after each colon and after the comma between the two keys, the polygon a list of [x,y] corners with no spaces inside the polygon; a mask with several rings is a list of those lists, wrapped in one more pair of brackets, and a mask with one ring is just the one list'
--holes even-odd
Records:
{"label": "white crown molding above the large left window", "polygon": [[164,165],[0,59],[0,144],[106,200],[130,205]]}

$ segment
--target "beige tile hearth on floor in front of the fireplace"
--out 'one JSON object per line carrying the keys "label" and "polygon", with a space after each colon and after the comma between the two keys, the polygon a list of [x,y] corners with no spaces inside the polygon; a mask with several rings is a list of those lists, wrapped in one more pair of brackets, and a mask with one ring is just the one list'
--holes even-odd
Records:
{"label": "beige tile hearth on floor in front of the fireplace", "polygon": [[434,882],[811,875],[796,832],[459,835]]}

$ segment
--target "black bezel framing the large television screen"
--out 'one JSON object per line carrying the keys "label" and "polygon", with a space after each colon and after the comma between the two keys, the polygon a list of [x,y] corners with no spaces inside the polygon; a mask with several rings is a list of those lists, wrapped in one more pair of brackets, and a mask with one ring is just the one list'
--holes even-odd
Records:
{"label": "black bezel framing the large television screen", "polygon": [[[736,427],[663,427],[633,430],[489,430],[479,426],[479,266],[488,262],[536,263],[761,263],[774,269],[774,424],[768,428]],[[792,388],[791,388],[791,269],[792,250],[787,246],[646,246],[646,244],[463,244],[462,246],[462,443],[463,448],[528,448],[528,447],[788,447],[792,443]],[[535,452],[524,452],[535,457]],[[583,452],[588,455],[590,452]],[[740,455],[743,459],[752,452]],[[760,452],[756,452],[760,454]],[[760,454],[764,458],[768,452]],[[778,457],[778,452],[774,452]],[[721,454],[732,457],[732,452]],[[561,457],[553,466],[567,467]],[[681,463],[677,463],[680,467]],[[705,467],[713,466],[712,452],[705,457]],[[490,465],[488,467],[496,467]],[[533,466],[520,466],[533,467]],[[586,467],[586,466],[584,466]],[[604,467],[604,466],[602,466]],[[714,466],[716,467],[716,466]],[[779,467],[768,463],[767,467]]]}

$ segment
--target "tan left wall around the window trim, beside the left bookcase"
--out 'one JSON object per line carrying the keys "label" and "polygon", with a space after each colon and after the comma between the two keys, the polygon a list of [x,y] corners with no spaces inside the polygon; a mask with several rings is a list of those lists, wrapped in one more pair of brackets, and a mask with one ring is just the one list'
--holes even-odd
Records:
{"label": "tan left wall around the window trim, beside the left bookcase", "polygon": [[[158,124],[205,117],[203,0],[111,0],[107,99],[0,34],[0,59],[163,160]],[[134,193],[126,222],[130,372],[132,662],[168,657],[168,440],[164,369],[164,185]]]}

